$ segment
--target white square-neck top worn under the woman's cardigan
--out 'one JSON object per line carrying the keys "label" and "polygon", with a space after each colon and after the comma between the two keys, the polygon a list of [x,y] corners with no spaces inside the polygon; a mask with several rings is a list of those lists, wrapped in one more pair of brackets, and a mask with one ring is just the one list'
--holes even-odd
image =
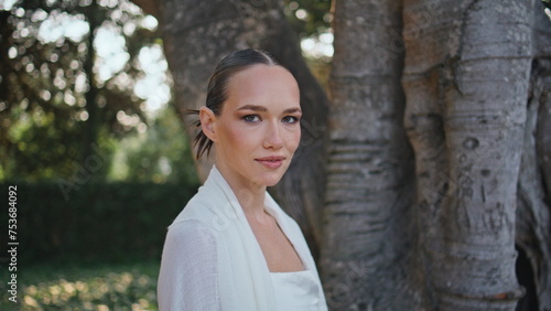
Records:
{"label": "white square-neck top worn under the woman's cardigan", "polygon": [[320,288],[312,270],[298,272],[270,272],[278,311],[316,311]]}

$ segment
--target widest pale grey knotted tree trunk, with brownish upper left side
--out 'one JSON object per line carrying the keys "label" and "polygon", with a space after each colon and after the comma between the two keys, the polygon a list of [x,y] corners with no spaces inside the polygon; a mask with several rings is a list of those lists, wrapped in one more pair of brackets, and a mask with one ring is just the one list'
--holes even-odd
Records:
{"label": "widest pale grey knotted tree trunk, with brownish upper left side", "polygon": [[512,310],[527,1],[407,0],[403,86],[430,309]]}

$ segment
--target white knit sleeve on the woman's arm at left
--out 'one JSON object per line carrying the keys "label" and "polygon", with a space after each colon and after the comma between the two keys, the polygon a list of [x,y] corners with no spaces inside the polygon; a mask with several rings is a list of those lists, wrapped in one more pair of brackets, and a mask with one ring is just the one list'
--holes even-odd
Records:
{"label": "white knit sleeve on the woman's arm at left", "polygon": [[222,310],[217,240],[198,221],[170,226],[159,275],[159,310]]}

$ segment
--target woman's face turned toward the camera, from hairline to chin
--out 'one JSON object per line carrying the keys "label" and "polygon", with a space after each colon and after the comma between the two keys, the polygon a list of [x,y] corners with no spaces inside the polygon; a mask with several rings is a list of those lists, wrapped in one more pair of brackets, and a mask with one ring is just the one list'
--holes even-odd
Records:
{"label": "woman's face turned toward the camera, from hairline to chin", "polygon": [[214,116],[216,165],[233,186],[271,186],[285,173],[301,139],[300,92],[281,66],[253,65],[233,75]]}

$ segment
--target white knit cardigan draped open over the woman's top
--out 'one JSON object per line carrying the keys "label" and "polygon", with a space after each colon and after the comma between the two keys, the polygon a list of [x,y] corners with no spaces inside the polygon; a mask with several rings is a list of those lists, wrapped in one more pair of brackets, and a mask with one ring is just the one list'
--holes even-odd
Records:
{"label": "white knit cardigan draped open over the woman's top", "polygon": [[[268,192],[264,206],[294,246],[305,269],[315,272],[320,288],[317,310],[327,310],[315,262],[299,225]],[[169,227],[158,300],[161,311],[276,310],[270,270],[260,245],[216,167]]]}

